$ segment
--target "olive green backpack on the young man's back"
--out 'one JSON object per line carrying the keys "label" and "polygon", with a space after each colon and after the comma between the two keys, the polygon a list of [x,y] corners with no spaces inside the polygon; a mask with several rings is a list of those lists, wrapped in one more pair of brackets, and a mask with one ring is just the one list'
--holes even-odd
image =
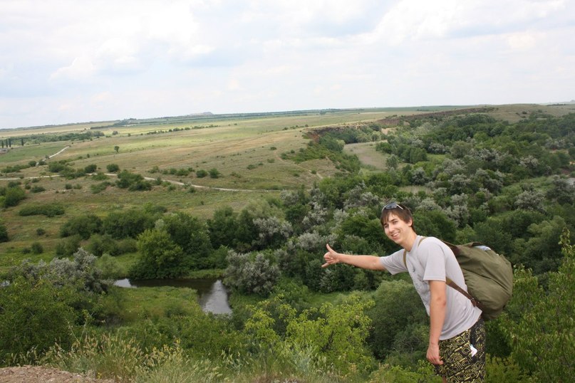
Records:
{"label": "olive green backpack on the young man's back", "polygon": [[[420,243],[424,239],[425,237],[421,238]],[[465,245],[442,242],[455,254],[469,293],[450,278],[447,278],[445,283],[465,295],[474,306],[480,308],[483,311],[484,320],[497,318],[513,292],[511,263],[504,256],[479,242],[465,243]],[[403,263],[405,263],[406,253],[407,251],[403,251]]]}

